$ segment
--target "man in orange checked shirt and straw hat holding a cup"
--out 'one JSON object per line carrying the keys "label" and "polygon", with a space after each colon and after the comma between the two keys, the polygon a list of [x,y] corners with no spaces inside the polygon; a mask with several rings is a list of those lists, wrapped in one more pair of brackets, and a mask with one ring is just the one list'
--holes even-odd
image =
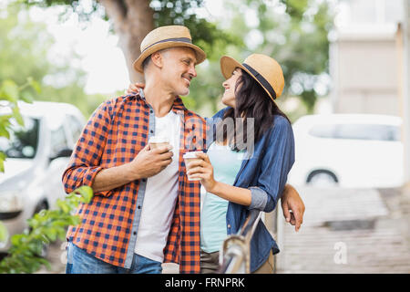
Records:
{"label": "man in orange checked shirt and straw hat holding a cup", "polygon": [[[206,123],[179,95],[205,58],[187,27],[154,29],[134,63],[145,89],[109,99],[88,120],[63,174],[67,193],[95,193],[68,229],[67,273],[161,273],[162,262],[200,272],[200,183],[188,181],[182,155],[204,150]],[[149,147],[165,134],[171,147]]]}

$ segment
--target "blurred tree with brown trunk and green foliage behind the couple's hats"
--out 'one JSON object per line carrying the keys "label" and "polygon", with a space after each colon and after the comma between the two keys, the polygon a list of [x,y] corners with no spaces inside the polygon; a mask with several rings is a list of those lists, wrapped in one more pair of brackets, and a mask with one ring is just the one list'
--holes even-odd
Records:
{"label": "blurred tree with brown trunk and green foliage behind the couple's hats", "polygon": [[[301,97],[310,111],[319,95],[317,85],[328,71],[327,35],[333,26],[333,12],[326,0],[226,0],[227,16],[212,21],[195,14],[205,0],[99,0],[92,5],[84,5],[81,0],[20,1],[43,7],[65,5],[66,15],[77,13],[84,20],[96,14],[109,19],[119,37],[131,80],[141,79],[132,69],[132,62],[139,55],[142,38],[151,29],[172,24],[188,26],[194,42],[209,57],[209,63],[199,68],[200,80],[192,83],[190,97],[185,98],[192,110],[210,113],[218,108],[222,92],[218,60],[224,54],[243,59],[251,52],[261,52],[275,57],[285,76],[284,96]],[[257,26],[247,23],[245,15],[249,11],[255,12]],[[231,19],[227,19],[229,15],[233,15]],[[229,26],[221,25],[227,22]],[[251,42],[255,35],[261,42]]]}

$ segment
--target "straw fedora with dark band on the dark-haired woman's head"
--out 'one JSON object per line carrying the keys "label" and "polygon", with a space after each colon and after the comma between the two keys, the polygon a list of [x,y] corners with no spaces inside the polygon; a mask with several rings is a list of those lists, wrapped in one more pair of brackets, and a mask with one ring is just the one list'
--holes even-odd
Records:
{"label": "straw fedora with dark band on the dark-haired woman's head", "polygon": [[233,57],[220,57],[220,70],[224,78],[231,78],[235,68],[241,68],[254,78],[269,94],[272,100],[282,95],[284,78],[281,65],[272,57],[252,54],[243,63]]}

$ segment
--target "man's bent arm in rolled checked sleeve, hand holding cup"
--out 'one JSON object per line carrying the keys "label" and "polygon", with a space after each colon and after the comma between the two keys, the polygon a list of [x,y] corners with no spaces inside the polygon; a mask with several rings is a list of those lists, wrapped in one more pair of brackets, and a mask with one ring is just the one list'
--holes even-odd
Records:
{"label": "man's bent arm in rolled checked sleeve, hand holding cup", "polygon": [[170,162],[172,152],[168,148],[149,151],[149,146],[138,152],[132,162],[112,168],[100,165],[106,147],[111,123],[111,101],[101,104],[94,111],[63,174],[66,193],[82,185],[93,188],[95,195],[109,196],[112,189],[141,178],[148,178],[162,171]]}

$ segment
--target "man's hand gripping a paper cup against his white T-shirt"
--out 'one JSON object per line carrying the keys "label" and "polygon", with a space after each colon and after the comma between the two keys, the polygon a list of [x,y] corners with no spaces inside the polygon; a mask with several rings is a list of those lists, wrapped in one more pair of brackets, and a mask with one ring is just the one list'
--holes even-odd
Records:
{"label": "man's hand gripping a paper cup against his white T-shirt", "polygon": [[169,147],[160,147],[150,149],[149,144],[145,146],[132,162],[129,162],[128,170],[132,173],[135,180],[149,178],[164,170],[172,162],[172,149]]}

